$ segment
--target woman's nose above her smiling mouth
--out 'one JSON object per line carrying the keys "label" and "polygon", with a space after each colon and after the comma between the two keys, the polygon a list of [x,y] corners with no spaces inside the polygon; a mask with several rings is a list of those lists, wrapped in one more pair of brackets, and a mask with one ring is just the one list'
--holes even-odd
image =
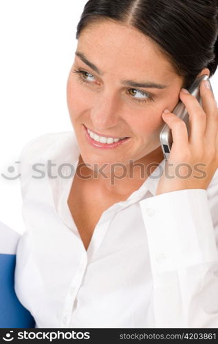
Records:
{"label": "woman's nose above her smiling mouth", "polygon": [[101,92],[91,109],[91,121],[96,131],[116,127],[120,120],[120,105],[116,94]]}

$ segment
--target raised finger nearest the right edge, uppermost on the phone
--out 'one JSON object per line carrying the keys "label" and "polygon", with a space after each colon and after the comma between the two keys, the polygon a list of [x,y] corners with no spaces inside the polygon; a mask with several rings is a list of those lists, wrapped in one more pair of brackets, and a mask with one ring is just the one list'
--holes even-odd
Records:
{"label": "raised finger nearest the right edge, uppermost on the phone", "polygon": [[208,142],[215,144],[218,131],[218,112],[215,96],[210,89],[210,84],[202,82],[200,85],[201,102],[206,113],[205,137]]}

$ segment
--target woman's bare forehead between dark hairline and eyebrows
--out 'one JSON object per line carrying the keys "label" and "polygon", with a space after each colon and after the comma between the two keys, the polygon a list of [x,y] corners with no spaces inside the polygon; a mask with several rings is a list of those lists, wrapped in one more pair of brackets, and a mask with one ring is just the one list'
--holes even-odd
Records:
{"label": "woman's bare forehead between dark hairline and eyebrows", "polygon": [[80,33],[77,50],[105,73],[143,72],[164,80],[176,75],[153,40],[121,23],[103,21],[88,25]]}

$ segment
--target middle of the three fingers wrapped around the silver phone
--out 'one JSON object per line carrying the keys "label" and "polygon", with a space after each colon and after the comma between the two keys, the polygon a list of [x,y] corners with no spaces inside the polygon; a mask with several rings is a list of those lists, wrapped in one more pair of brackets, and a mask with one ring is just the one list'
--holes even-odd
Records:
{"label": "middle of the three fingers wrapped around the silver phone", "polygon": [[[188,92],[187,90],[185,90]],[[197,101],[195,96],[184,93],[183,89],[179,94],[182,103],[184,103],[189,115],[190,137],[189,142],[198,149],[204,144],[204,133],[206,130],[206,114]]]}

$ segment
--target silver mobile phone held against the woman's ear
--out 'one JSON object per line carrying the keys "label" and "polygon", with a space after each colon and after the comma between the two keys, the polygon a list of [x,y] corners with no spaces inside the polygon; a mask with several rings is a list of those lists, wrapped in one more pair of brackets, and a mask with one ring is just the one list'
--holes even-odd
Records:
{"label": "silver mobile phone held against the woman's ear", "polygon": [[[199,85],[202,80],[208,80],[210,89],[212,91],[212,86],[210,84],[209,77],[207,75],[199,76],[195,79],[193,85],[190,86],[188,89],[188,92],[195,96],[197,100],[199,101],[200,105],[201,103],[201,97],[199,94]],[[184,103],[180,100],[179,103],[176,105],[176,107],[173,109],[173,114],[184,120],[186,123],[187,131],[188,131],[188,136],[190,135],[190,128],[189,128],[189,115],[188,111],[186,110],[186,107],[184,106]],[[168,157],[171,153],[171,147],[173,144],[173,137],[172,137],[172,131],[171,128],[168,127],[167,124],[164,125],[162,131],[160,132],[160,144],[162,147],[162,151],[164,153],[164,158],[165,160],[168,160]]]}

